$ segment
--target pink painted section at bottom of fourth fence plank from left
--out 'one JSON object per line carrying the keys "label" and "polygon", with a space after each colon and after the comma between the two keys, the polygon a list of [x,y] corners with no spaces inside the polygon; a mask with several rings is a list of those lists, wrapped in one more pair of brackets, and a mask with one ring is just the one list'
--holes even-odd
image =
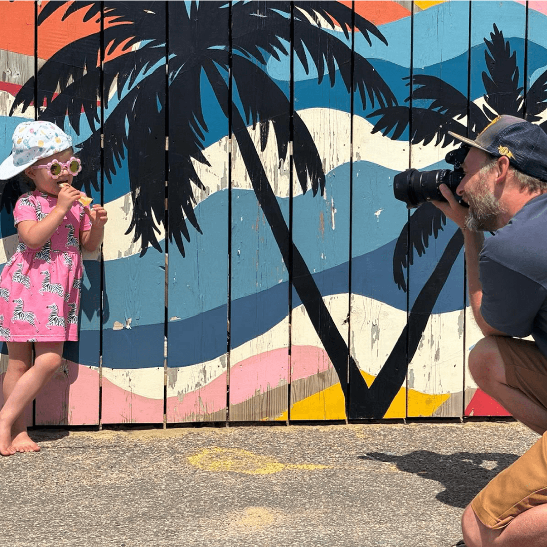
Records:
{"label": "pink painted section at bottom of fourth fence plank from left", "polygon": [[226,373],[190,393],[167,397],[167,422],[197,421],[226,408]]}

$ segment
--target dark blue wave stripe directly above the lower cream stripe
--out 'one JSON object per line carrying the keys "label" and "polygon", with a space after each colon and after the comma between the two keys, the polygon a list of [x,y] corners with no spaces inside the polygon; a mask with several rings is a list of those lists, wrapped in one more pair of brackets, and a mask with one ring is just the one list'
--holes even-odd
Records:
{"label": "dark blue wave stripe directly above the lower cream stripe", "polygon": [[[439,247],[448,241],[453,230],[445,230],[439,238]],[[394,290],[392,257],[395,242],[390,242],[375,251],[356,257],[352,261],[352,290],[354,294],[368,296],[385,302],[399,310],[406,309],[406,294]],[[425,278],[431,274],[432,264],[416,260],[412,276]],[[313,275],[323,296],[344,294],[347,290],[348,264],[341,264],[320,274]],[[419,284],[419,283],[418,283]],[[231,347],[237,347],[263,335],[287,316],[288,283],[280,283],[257,294],[233,300],[231,303]],[[412,292],[412,287],[411,287]],[[413,294],[412,298],[416,298]],[[293,308],[301,304],[297,295]],[[412,305],[412,301],[411,301]],[[433,313],[443,313],[463,308],[463,253],[458,257],[449,279],[440,292]],[[226,306],[200,313],[168,324],[168,366],[186,366],[205,362],[224,354],[226,351]],[[146,325],[129,331],[109,331],[104,335],[105,353],[107,347],[115,348],[118,356],[129,352],[138,355],[141,366],[158,359],[153,354],[149,340],[161,335],[163,325]],[[105,331],[106,333],[106,331]],[[130,337],[131,336],[131,337]],[[136,368],[135,362],[118,360],[112,368]]]}

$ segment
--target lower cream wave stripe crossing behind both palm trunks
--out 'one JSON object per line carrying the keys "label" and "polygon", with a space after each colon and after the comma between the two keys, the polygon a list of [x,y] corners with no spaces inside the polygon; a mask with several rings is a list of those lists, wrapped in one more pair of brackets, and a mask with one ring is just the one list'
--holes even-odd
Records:
{"label": "lower cream wave stripe crossing behind both palm trunks", "polygon": [[[337,294],[324,298],[333,319],[337,325],[341,325],[347,315],[347,294]],[[462,333],[457,329],[446,329],[444,331],[443,344],[449,347],[449,351],[444,351],[439,359],[435,359],[435,347],[428,342],[428,334],[438,324],[457,324],[463,311],[456,310],[441,314],[432,315],[429,318],[428,325],[424,331],[426,334],[418,350],[412,359],[411,367],[414,364],[428,363],[430,374],[414,374],[411,385],[408,387],[421,393],[461,393],[462,392],[462,371],[461,366],[463,339]],[[467,310],[468,317],[470,310]],[[298,306],[293,310],[293,317],[304,317],[303,306]],[[275,351],[287,348],[288,344],[288,318],[275,325],[269,331],[258,337],[249,340],[234,348],[230,354],[231,366],[237,366],[238,363],[246,359],[257,356],[257,342],[268,340],[267,348],[263,351]],[[382,368],[385,360],[391,353],[395,342],[406,323],[406,312],[398,310],[392,306],[367,298],[360,295],[352,296],[352,331],[351,331],[351,351],[360,370],[370,375],[376,376]],[[467,329],[467,346],[472,346],[480,339],[480,332],[477,329]],[[446,337],[449,340],[446,340]],[[308,346],[322,348],[310,321],[299,321],[298,330],[293,329],[293,342],[298,346]],[[417,365],[416,365],[417,366]],[[103,369],[104,370],[104,369]],[[226,371],[225,356],[220,356],[206,363],[197,363],[195,365],[184,366],[180,368],[170,368],[168,372],[167,396],[182,396],[191,393],[196,389],[202,388],[215,380]],[[153,393],[159,393],[159,387],[155,386],[148,391],[151,382],[156,381],[155,369],[141,369],[142,379],[148,374],[149,381],[133,382],[125,370],[108,370],[108,379],[118,386],[144,395],[151,396]],[[104,372],[103,372],[104,374]],[[151,387],[151,386],[150,386]],[[471,386],[473,387],[473,386]]]}

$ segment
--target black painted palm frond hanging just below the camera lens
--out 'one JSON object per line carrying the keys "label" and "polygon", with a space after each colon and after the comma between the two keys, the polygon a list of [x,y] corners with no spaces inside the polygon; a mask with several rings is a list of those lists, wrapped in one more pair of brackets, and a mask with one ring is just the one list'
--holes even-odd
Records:
{"label": "black painted palm frond hanging just below the camera lens", "polygon": [[439,230],[443,230],[443,225],[446,225],[446,216],[433,203],[424,203],[412,214],[410,225],[410,248],[408,248],[409,223],[407,222],[397,238],[393,251],[393,281],[405,293],[408,287],[406,286],[404,270],[409,263],[410,265],[414,264],[415,253],[418,253],[418,257],[421,257],[426,252],[429,246],[429,238],[432,235],[437,239]]}

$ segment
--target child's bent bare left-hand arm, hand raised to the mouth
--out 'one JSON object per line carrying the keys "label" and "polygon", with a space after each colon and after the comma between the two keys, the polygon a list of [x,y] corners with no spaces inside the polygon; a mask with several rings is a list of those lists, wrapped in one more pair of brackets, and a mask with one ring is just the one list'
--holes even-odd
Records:
{"label": "child's bent bare left-hand arm, hand raised to the mouth", "polygon": [[74,205],[74,201],[80,196],[82,193],[71,186],[62,188],[57,196],[57,205],[48,213],[48,216],[39,221],[22,220],[17,225],[17,230],[25,245],[31,249],[42,247],[55,234],[63,218]]}

